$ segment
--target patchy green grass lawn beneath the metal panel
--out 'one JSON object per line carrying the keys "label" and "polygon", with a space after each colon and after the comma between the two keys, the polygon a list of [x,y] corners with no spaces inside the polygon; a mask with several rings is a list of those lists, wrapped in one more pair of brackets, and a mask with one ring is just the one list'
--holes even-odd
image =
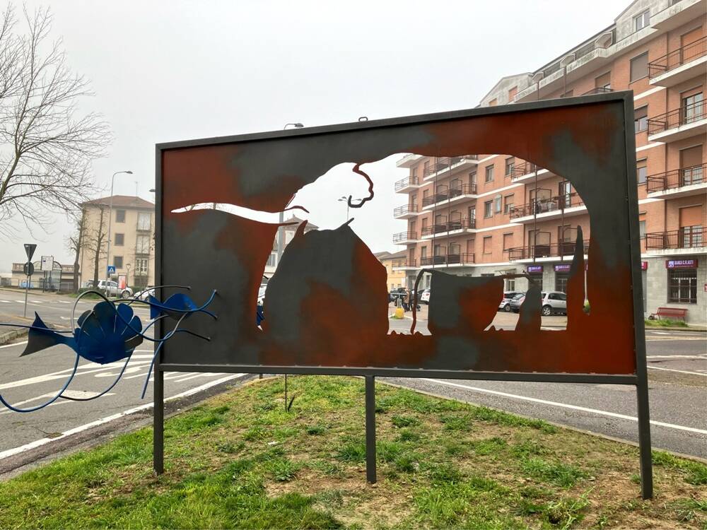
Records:
{"label": "patchy green grass lawn beneath the metal panel", "polygon": [[707,466],[540,420],[377,385],[366,483],[363,380],[281,378],[0,483],[0,528],[707,528]]}

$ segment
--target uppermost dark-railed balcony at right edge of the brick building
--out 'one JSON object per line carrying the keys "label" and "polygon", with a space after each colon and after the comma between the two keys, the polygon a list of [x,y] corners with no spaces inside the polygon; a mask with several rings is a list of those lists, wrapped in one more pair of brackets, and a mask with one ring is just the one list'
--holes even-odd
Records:
{"label": "uppermost dark-railed balcony at right edge of the brick building", "polygon": [[707,37],[676,49],[648,63],[650,84],[675,86],[696,76],[704,76],[707,65]]}

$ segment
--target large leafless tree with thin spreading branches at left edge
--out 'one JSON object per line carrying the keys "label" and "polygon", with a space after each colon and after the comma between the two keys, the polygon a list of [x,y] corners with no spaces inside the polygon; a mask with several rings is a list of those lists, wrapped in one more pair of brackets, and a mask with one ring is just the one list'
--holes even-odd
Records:
{"label": "large leafless tree with thin spreading branches at left edge", "polygon": [[0,236],[18,225],[45,228],[50,213],[76,213],[93,194],[91,161],[110,131],[98,114],[78,112],[88,82],[49,42],[46,9],[23,11],[23,33],[8,6],[0,20]]}

